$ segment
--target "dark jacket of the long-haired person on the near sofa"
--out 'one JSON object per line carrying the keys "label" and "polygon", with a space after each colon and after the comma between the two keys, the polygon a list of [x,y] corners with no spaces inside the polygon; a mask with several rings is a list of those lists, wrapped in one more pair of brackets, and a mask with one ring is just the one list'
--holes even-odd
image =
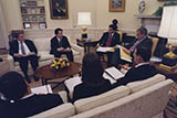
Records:
{"label": "dark jacket of the long-haired person on the near sofa", "polygon": [[102,83],[95,84],[95,85],[82,83],[82,84],[74,87],[73,101],[81,99],[81,98],[86,98],[86,97],[103,94],[103,93],[110,90],[111,87],[112,87],[112,85],[111,85],[110,81],[104,79],[104,78],[103,78]]}

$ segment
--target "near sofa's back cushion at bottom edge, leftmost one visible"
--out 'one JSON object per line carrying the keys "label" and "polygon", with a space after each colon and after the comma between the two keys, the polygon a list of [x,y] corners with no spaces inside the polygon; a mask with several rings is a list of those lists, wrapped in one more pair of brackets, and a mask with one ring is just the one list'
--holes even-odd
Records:
{"label": "near sofa's back cushion at bottom edge, leftmost one visible", "polygon": [[50,110],[43,111],[32,118],[67,118],[75,115],[75,109],[72,104],[63,104]]}

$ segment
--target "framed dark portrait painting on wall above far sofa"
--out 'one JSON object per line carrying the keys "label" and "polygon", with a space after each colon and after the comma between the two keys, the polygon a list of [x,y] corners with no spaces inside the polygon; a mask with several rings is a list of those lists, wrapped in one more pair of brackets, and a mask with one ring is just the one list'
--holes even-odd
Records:
{"label": "framed dark portrait painting on wall above far sofa", "polygon": [[50,0],[51,19],[69,19],[67,0]]}

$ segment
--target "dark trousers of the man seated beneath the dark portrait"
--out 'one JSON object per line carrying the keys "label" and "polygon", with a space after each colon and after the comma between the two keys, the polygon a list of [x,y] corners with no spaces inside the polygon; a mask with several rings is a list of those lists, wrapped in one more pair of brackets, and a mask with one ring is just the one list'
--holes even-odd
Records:
{"label": "dark trousers of the man seated beneath the dark portrait", "polygon": [[65,54],[70,62],[74,62],[73,52],[56,52],[54,57],[61,57],[62,54]]}

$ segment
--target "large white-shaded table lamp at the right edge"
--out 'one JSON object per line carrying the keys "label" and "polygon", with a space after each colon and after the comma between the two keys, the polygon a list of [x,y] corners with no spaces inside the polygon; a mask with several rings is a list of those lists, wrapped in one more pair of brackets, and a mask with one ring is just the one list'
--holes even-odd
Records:
{"label": "large white-shaded table lamp at the right edge", "polygon": [[[164,7],[163,18],[158,30],[158,36],[167,37],[169,46],[169,53],[164,55],[163,60],[169,66],[174,66],[177,63],[177,55],[173,53],[173,45],[177,43],[177,7]],[[175,60],[175,61],[174,61]]]}

